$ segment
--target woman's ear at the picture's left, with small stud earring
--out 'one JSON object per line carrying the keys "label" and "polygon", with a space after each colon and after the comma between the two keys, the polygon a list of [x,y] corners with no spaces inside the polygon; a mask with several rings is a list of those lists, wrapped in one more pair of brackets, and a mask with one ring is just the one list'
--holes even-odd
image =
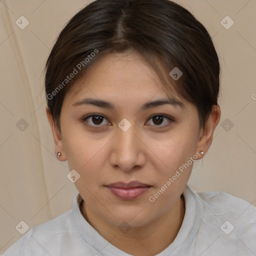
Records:
{"label": "woman's ear at the picture's left, with small stud earring", "polygon": [[65,161],[67,158],[66,158],[66,154],[65,154],[65,150],[64,150],[64,146],[63,146],[63,140],[62,140],[61,132],[55,126],[55,123],[53,121],[50,110],[48,109],[48,106],[46,106],[46,114],[47,114],[47,118],[48,118],[48,121],[49,121],[49,124],[50,124],[50,127],[51,127],[53,139],[54,139],[54,144],[55,144],[54,154],[56,155],[55,152],[60,151],[61,155],[57,159],[60,160],[60,161]]}

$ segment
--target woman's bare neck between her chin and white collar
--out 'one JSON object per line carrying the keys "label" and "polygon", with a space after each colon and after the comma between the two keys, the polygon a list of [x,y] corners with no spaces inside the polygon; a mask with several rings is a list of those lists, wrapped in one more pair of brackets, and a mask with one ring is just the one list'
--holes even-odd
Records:
{"label": "woman's bare neck between her chin and white collar", "polygon": [[175,239],[184,218],[185,203],[181,195],[160,218],[144,226],[131,227],[125,234],[91,211],[84,201],[80,209],[88,223],[115,247],[134,256],[151,256],[163,251]]}

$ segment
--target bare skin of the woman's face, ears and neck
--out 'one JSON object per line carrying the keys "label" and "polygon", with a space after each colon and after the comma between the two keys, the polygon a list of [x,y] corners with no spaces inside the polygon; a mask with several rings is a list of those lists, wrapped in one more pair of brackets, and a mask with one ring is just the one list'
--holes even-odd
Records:
{"label": "bare skin of the woman's face, ears and neck", "polygon": [[[220,118],[220,109],[214,106],[202,130],[196,107],[178,95],[173,97],[183,108],[164,104],[138,111],[147,101],[167,98],[161,87],[139,54],[112,53],[96,60],[66,94],[61,132],[46,108],[55,151],[61,152],[58,159],[67,160],[69,169],[80,174],[74,184],[84,199],[81,213],[106,240],[132,255],[157,254],[176,237],[185,212],[182,192],[192,164],[154,202],[149,196],[196,152],[207,152]],[[109,101],[115,109],[73,105],[87,97]],[[82,120],[91,113],[105,118]],[[174,120],[164,117],[162,123],[157,122],[151,118],[155,114]],[[118,127],[123,118],[131,123],[127,131]],[[132,180],[151,187],[136,199],[124,200],[105,186]],[[126,233],[118,228],[123,221],[130,227]]]}

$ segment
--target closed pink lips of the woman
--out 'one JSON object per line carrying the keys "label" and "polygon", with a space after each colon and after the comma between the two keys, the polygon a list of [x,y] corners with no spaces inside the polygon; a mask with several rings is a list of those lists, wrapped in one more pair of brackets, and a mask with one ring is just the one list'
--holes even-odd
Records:
{"label": "closed pink lips of the woman", "polygon": [[129,183],[115,182],[106,187],[117,197],[124,200],[132,200],[145,193],[151,186],[138,182],[131,181]]}

